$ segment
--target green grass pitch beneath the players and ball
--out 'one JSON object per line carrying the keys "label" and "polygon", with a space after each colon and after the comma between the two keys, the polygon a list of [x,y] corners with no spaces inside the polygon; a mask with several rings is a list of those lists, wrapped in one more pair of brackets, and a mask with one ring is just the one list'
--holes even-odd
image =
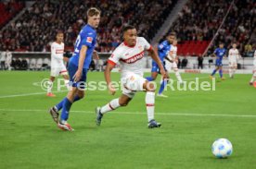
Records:
{"label": "green grass pitch beneath the players and ball", "polygon": [[[0,168],[256,168],[256,89],[248,84],[251,75],[217,81],[216,91],[165,91],[169,98],[156,98],[155,117],[162,127],[155,129],[147,128],[144,92],[127,107],[105,115],[96,127],[95,107],[121,92],[111,96],[108,91],[86,91],[70,111],[73,132],[58,129],[47,113],[67,93],[46,97],[38,82],[48,76],[0,72]],[[210,81],[208,76],[182,74],[187,80]],[[119,74],[112,78],[118,80]],[[89,72],[87,80],[104,80],[103,73]],[[211,154],[218,138],[233,144],[228,159]]]}

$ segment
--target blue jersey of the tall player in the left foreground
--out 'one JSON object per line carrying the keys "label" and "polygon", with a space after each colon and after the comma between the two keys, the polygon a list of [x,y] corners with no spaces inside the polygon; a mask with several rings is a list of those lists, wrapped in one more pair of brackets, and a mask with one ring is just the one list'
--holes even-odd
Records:
{"label": "blue jersey of the tall player in the left foreground", "polygon": [[96,30],[90,25],[85,25],[76,39],[74,54],[70,58],[70,63],[75,66],[79,65],[79,54],[83,45],[87,46],[85,60],[83,62],[83,68],[88,69],[91,64],[93,52],[96,47]]}

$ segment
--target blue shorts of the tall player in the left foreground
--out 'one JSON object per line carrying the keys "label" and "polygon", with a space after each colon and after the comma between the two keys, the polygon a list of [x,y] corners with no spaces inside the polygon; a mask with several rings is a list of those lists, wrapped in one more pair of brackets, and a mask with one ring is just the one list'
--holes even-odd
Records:
{"label": "blue shorts of the tall player in the left foreground", "polygon": [[78,66],[74,65],[73,63],[69,63],[68,71],[70,76],[70,86],[84,89],[85,82],[86,82],[86,75],[87,75],[87,68],[83,68],[82,77],[79,81],[74,81],[74,75],[78,69]]}

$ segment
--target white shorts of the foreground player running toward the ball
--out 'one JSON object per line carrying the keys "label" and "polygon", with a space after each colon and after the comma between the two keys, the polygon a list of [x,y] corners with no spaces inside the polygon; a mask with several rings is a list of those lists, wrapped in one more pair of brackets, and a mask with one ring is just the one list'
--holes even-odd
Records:
{"label": "white shorts of the foreground player running toward the ball", "polygon": [[143,84],[147,79],[137,74],[129,73],[121,78],[122,94],[133,98],[136,91],[143,91]]}

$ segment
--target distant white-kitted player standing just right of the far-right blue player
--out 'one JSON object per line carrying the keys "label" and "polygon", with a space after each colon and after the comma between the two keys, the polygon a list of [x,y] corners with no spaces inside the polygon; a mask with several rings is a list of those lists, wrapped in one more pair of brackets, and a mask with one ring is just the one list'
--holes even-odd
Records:
{"label": "distant white-kitted player standing just right of the far-right blue player", "polygon": [[237,70],[237,60],[239,59],[239,52],[237,50],[237,43],[232,43],[232,48],[228,52],[228,63],[229,63],[229,78],[234,78],[234,74]]}

